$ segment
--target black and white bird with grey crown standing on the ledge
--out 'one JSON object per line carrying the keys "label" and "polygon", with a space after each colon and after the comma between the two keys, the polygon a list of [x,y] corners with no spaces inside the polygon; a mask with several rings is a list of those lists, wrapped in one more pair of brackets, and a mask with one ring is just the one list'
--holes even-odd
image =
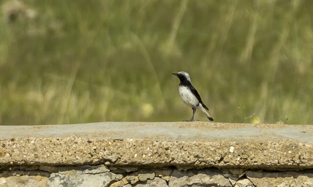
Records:
{"label": "black and white bird with grey crown standing on the ledge", "polygon": [[209,113],[205,110],[209,110],[207,106],[203,103],[198,91],[192,86],[190,81],[190,76],[187,72],[180,71],[178,73],[172,73],[176,75],[179,80],[178,91],[184,103],[190,107],[192,107],[193,113],[190,120],[187,122],[193,122],[198,120],[193,120],[193,116],[196,113],[196,110],[199,109],[208,117],[210,121],[213,121],[213,118],[209,115]]}

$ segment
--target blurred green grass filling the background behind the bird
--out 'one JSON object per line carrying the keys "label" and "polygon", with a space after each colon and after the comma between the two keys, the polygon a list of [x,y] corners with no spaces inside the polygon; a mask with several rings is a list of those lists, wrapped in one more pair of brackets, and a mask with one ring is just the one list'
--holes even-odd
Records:
{"label": "blurred green grass filling the background behind the bird", "polygon": [[313,1],[0,6],[0,125],[187,120],[178,71],[215,122],[311,124]]}

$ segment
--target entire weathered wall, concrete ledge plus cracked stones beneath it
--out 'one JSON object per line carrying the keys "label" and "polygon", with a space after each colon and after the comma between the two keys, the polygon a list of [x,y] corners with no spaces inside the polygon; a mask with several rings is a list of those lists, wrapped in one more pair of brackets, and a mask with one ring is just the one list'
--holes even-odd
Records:
{"label": "entire weathered wall, concrete ledge plus cracked stones beneath it", "polygon": [[312,135],[211,122],[0,126],[0,187],[309,187]]}

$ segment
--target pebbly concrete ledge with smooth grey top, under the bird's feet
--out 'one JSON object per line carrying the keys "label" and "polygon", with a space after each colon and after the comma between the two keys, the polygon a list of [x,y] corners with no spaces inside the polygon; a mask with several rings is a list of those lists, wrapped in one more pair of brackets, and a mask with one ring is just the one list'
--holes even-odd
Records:
{"label": "pebbly concrete ledge with smooth grey top, under the bird's feet", "polygon": [[211,122],[0,126],[0,168],[59,165],[182,169],[313,168],[313,127]]}

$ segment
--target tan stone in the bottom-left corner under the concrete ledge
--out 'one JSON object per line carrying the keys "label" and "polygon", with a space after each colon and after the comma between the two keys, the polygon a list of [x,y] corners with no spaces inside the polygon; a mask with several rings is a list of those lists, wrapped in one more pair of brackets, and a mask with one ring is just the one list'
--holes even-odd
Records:
{"label": "tan stone in the bottom-left corner under the concrete ledge", "polygon": [[0,178],[1,187],[46,187],[48,177],[42,176],[12,176]]}

